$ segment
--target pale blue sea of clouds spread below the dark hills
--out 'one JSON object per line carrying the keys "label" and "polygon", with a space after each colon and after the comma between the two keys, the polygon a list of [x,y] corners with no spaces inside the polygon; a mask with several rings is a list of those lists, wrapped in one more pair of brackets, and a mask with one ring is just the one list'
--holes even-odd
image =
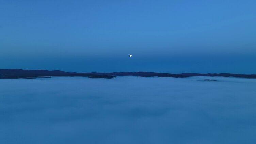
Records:
{"label": "pale blue sea of clouds spread below the dark hills", "polygon": [[1,144],[249,144],[255,133],[256,79],[0,80]]}

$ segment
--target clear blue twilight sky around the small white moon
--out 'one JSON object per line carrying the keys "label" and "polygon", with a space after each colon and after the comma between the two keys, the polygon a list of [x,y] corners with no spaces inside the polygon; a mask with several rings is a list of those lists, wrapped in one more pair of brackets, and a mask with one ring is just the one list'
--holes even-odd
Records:
{"label": "clear blue twilight sky around the small white moon", "polygon": [[255,0],[0,0],[0,69],[256,74],[255,7]]}

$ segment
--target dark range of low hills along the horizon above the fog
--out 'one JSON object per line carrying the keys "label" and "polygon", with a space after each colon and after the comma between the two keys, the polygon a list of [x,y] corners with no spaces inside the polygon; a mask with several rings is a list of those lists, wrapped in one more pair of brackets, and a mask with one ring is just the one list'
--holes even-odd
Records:
{"label": "dark range of low hills along the horizon above the fog", "polygon": [[22,69],[0,69],[0,79],[36,79],[50,78],[50,76],[82,76],[89,78],[106,78],[111,79],[116,76],[138,76],[138,77],[175,77],[185,78],[191,76],[220,76],[220,77],[239,77],[239,78],[256,78],[256,74],[232,74],[232,73],[155,73],[155,72],[111,72],[111,73],[76,73],[65,71],[48,71],[48,70],[22,70]]}

